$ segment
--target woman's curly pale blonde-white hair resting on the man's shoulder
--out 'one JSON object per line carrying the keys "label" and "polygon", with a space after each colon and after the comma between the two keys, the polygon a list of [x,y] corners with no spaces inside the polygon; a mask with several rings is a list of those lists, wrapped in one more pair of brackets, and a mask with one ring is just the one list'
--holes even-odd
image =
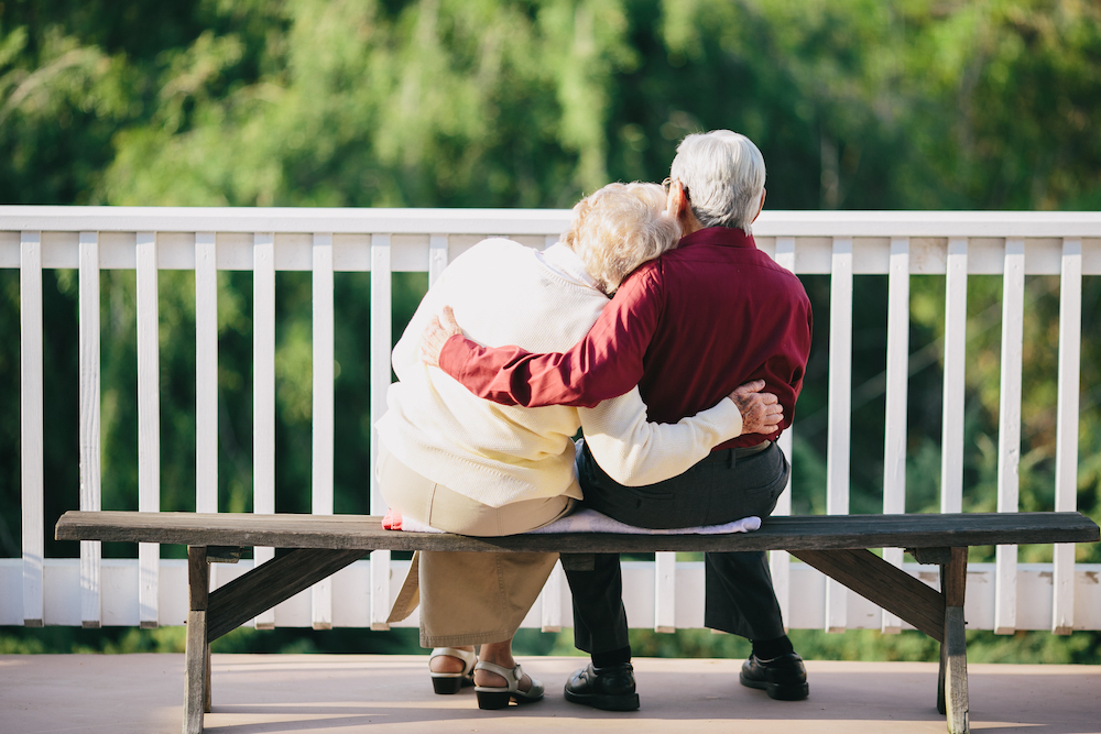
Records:
{"label": "woman's curly pale blonde-white hair resting on the man's shoulder", "polygon": [[608,184],[577,202],[562,241],[611,295],[631,271],[680,240],[680,226],[664,213],[665,204],[657,184]]}

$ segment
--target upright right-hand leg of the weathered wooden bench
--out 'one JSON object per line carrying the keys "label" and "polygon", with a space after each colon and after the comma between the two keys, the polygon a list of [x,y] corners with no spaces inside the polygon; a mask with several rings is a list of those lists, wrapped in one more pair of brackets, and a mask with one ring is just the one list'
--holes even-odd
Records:
{"label": "upright right-hand leg of the weathered wooden bench", "polygon": [[967,637],[963,599],[967,589],[967,548],[952,548],[951,561],[940,567],[945,595],[945,642],[940,644],[937,710],[948,720],[949,734],[968,734]]}

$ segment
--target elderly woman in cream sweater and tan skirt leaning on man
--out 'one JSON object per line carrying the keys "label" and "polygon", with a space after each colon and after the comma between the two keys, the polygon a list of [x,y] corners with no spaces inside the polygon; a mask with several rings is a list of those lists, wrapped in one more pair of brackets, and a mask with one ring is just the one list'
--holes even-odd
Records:
{"label": "elderly woman in cream sweater and tan skirt leaning on man", "polygon": [[[569,231],[546,251],[490,239],[448,266],[393,352],[399,382],[378,425],[378,475],[393,510],[449,533],[524,533],[566,515],[581,499],[574,470],[578,428],[600,467],[632,485],[680,474],[742,432],[733,395],[676,425],[647,423],[637,388],[595,408],[504,407],[418,359],[421,333],[445,304],[482,344],[568,349],[631,271],[677,242],[676,222],[662,213],[665,199],[659,186],[611,184],[574,208]],[[735,393],[745,405],[760,401],[759,425],[746,428],[772,430],[778,405],[762,407],[771,396],[752,387]],[[542,698],[542,684],[512,657],[512,637],[556,558],[417,555],[391,620],[404,618],[419,601],[421,644],[436,648],[429,659],[436,692],[458,691],[472,672],[481,708]],[[477,665],[476,644],[482,645]]]}

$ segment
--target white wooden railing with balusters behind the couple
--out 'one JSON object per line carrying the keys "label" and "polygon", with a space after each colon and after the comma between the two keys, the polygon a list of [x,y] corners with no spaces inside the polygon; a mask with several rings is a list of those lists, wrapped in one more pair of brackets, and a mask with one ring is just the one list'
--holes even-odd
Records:
{"label": "white wooden railing with balusters behind the couple", "polygon": [[[314,514],[333,513],[334,272],[371,273],[372,424],[390,384],[391,273],[427,272],[435,281],[448,261],[486,235],[543,248],[566,228],[564,210],[442,209],[176,209],[0,207],[0,267],[20,270],[22,558],[0,559],[0,624],[183,624],[186,561],[160,558],[142,544],[137,560],[102,559],[83,543],[80,558],[44,558],[42,271],[79,270],[80,508],[100,508],[99,273],[134,270],[138,285],[139,510],[160,510],[157,273],[195,272],[196,508],[217,512],[217,271],[253,272],[253,506],[275,508],[275,272],[313,272]],[[1025,275],[1059,275],[1058,434],[1056,510],[1076,510],[1083,275],[1101,274],[1101,213],[1040,212],[804,212],[772,211],[755,224],[759,247],[799,274],[829,274],[829,421],[827,512],[849,511],[852,286],[860,274],[886,274],[886,412],[883,512],[905,508],[909,276],[946,275],[945,394],[941,510],[959,512],[963,493],[966,306],[969,274],[1002,274],[1003,335],[998,510],[1015,512],[1020,460],[1022,313]],[[822,328],[819,326],[819,328]],[[791,456],[793,431],[782,445]],[[372,465],[378,452],[372,432]],[[74,457],[76,460],[77,457]],[[384,512],[371,478],[371,512]],[[778,514],[791,512],[791,491]],[[257,548],[255,561],[272,557]],[[903,565],[929,583],[935,567]],[[225,583],[252,562],[217,567]],[[404,563],[377,551],[258,617],[260,627],[385,628]],[[803,563],[772,554],[773,576],[793,628],[900,629],[900,621]],[[215,570],[215,569],[212,569]],[[1056,546],[1053,563],[1017,563],[1016,549],[969,568],[971,628],[1101,629],[1101,566],[1075,563],[1073,546]],[[702,626],[702,567],[659,554],[628,563],[631,623],[669,631]],[[569,592],[552,576],[525,626],[569,626]],[[415,625],[416,615],[403,625]]]}

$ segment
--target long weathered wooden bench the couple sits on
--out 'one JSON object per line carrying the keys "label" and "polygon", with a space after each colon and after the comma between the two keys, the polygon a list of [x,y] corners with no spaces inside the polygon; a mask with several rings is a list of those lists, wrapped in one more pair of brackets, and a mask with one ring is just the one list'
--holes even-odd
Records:
{"label": "long weathered wooden bench the couple sits on", "polygon": [[[963,599],[970,546],[1093,543],[1099,529],[1080,513],[831,515],[767,518],[734,535],[516,535],[476,538],[384,530],[375,516],[67,512],[58,540],[186,545],[189,580],[185,734],[203,731],[210,711],[210,643],[308,589],[372,550],[596,552],[787,550],[940,643],[937,708],[948,731],[969,731]],[[214,592],[209,563],[232,561],[240,549],[284,549]],[[869,548],[905,548],[920,563],[940,566],[938,592]]]}

